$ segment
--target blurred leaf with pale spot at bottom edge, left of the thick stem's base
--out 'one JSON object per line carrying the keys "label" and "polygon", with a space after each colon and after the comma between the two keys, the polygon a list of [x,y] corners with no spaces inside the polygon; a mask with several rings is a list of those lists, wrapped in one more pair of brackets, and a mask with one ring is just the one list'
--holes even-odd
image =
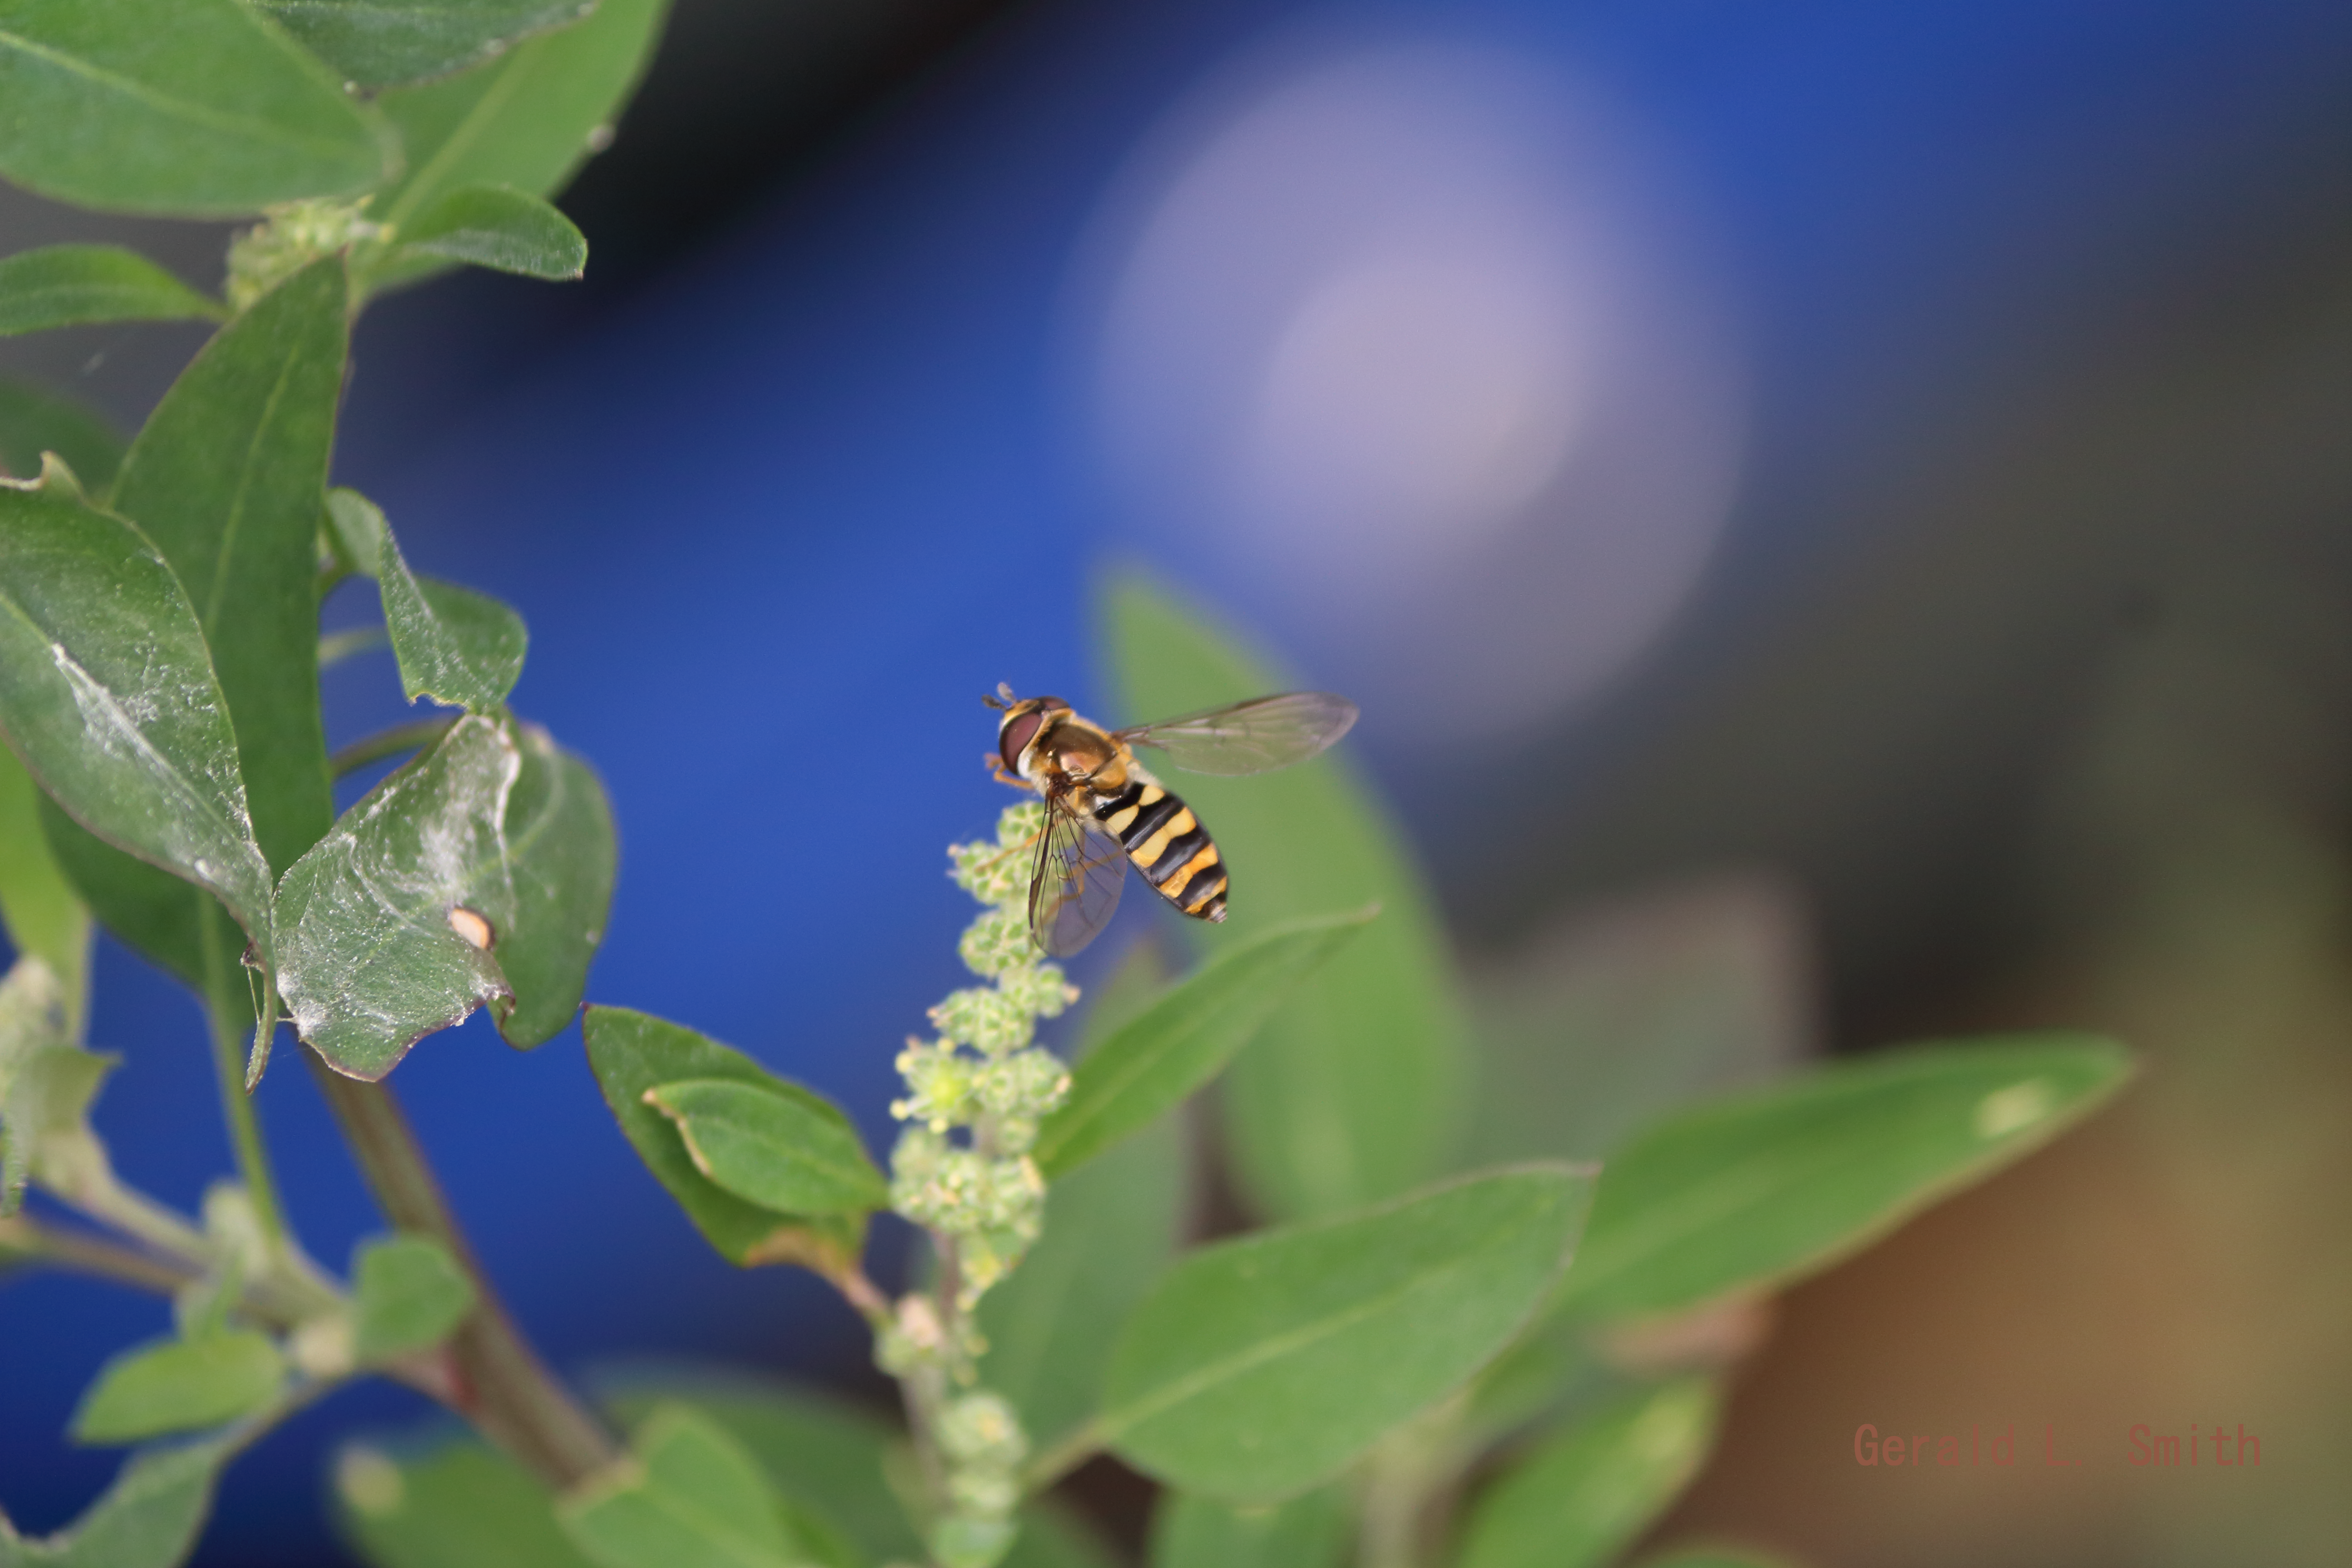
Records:
{"label": "blurred leaf with pale spot at bottom edge, left of the thick stem's base", "polygon": [[350,1446],[334,1465],[336,1519],[376,1568],[588,1568],[555,1523],[555,1495],[473,1441],[397,1460]]}

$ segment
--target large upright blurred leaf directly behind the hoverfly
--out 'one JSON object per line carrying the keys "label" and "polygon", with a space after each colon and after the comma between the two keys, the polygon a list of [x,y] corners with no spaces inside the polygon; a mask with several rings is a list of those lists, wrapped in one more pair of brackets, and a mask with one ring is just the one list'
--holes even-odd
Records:
{"label": "large upright blurred leaf directly behind the hoverfly", "polygon": [[[1105,609],[1134,719],[1282,686],[1202,616],[1138,581],[1112,583]],[[1230,919],[1200,931],[1211,947],[1334,905],[1383,910],[1225,1074],[1225,1138],[1244,1194],[1268,1215],[1315,1218],[1425,1182],[1454,1150],[1470,1044],[1444,933],[1402,835],[1341,757],[1174,783],[1232,867]]]}

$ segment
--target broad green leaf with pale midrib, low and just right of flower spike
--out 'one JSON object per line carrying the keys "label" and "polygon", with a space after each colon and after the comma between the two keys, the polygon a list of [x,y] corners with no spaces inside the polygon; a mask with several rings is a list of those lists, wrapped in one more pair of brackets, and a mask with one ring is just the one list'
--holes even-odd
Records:
{"label": "broad green leaf with pale midrib, low and just right of flower spike", "polygon": [[1588,1171],[1519,1166],[1192,1253],[1120,1335],[1103,1439],[1225,1502],[1331,1479],[1510,1342],[1590,1190]]}

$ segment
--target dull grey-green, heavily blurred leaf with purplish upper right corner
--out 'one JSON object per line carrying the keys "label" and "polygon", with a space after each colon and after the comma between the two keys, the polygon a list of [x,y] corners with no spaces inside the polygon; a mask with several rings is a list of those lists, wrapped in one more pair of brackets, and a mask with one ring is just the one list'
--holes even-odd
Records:
{"label": "dull grey-green, heavily blurred leaf with purplish upper right corner", "polygon": [[1599,1159],[1656,1117],[1771,1081],[1813,1044],[1795,896],[1717,877],[1578,910],[1470,987],[1477,1159]]}

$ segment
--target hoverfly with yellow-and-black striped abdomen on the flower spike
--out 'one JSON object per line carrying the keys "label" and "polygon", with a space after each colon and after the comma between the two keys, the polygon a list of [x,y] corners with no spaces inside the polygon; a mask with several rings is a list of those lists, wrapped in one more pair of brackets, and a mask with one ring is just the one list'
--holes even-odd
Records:
{"label": "hoverfly with yellow-and-black striped abdomen on the flower spike", "polygon": [[1225,919],[1225,863],[1192,809],[1136,762],[1155,745],[1190,773],[1265,773],[1305,762],[1355,724],[1355,703],[1329,691],[1284,691],[1181,719],[1103,729],[1058,696],[981,698],[1000,708],[997,783],[1044,797],[1030,870],[1030,936],[1065,959],[1110,924],[1127,863],[1192,919]]}

